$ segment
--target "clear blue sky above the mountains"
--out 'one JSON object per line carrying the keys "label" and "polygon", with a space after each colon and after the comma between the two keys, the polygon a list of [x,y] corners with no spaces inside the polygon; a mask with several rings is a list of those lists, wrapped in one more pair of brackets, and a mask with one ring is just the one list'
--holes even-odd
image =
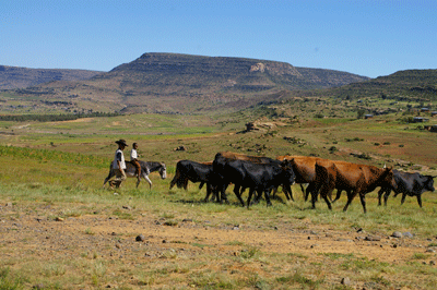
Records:
{"label": "clear blue sky above the mountains", "polygon": [[0,65],[109,71],[145,52],[437,69],[437,0],[0,0]]}

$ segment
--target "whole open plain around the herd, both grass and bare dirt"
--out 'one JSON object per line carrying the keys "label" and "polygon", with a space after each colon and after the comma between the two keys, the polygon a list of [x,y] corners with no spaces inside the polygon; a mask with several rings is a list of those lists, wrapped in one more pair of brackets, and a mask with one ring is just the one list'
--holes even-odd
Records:
{"label": "whole open plain around the herd, both grass and bare dirt", "polygon": [[[168,186],[178,160],[222,150],[437,174],[436,134],[397,116],[265,119],[270,129],[237,134],[248,118],[1,123],[0,289],[435,289],[435,193],[423,194],[423,208],[412,197],[400,206],[400,196],[378,207],[369,193],[363,214],[358,200],[343,213],[344,196],[332,212],[323,202],[310,209],[297,185],[295,202],[279,193],[272,207],[250,209],[231,192],[231,204],[220,205],[201,202],[196,184]],[[151,190],[131,179],[103,189],[121,137],[139,143],[142,159],[164,161],[167,179],[152,173]],[[175,150],[181,145],[187,150]]]}

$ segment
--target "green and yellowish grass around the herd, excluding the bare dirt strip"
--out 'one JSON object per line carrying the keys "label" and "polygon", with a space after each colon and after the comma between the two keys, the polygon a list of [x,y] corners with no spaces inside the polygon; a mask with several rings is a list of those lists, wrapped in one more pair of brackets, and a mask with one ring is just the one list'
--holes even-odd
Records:
{"label": "green and yellowish grass around the herd, excluding the bare dirt strip", "polygon": [[[151,126],[153,134],[149,135],[149,128],[144,126],[135,131],[144,134],[127,135],[127,140],[140,142],[140,152],[144,159],[165,161],[167,179],[162,180],[157,173],[152,173],[152,190],[144,181],[137,189],[134,179],[128,179],[117,190],[110,190],[108,186],[103,189],[103,181],[108,173],[109,162],[114,158],[116,149],[114,141],[125,137],[125,135],[106,135],[102,132],[94,134],[93,126],[97,124],[92,122],[87,124],[88,128],[84,124],[82,126],[62,124],[57,129],[68,131],[63,134],[42,133],[20,135],[8,141],[1,140],[1,144],[14,145],[0,146],[0,201],[13,204],[13,210],[1,215],[0,219],[10,221],[20,219],[23,215],[39,216],[44,213],[44,216],[39,216],[39,218],[48,221],[54,221],[57,217],[79,219],[87,215],[101,215],[105,218],[120,219],[123,222],[138,222],[143,215],[147,215],[153,216],[161,225],[175,227],[175,229],[184,225],[184,219],[190,219],[190,222],[197,227],[203,227],[209,231],[239,228],[240,230],[265,231],[267,234],[270,231],[288,234],[287,229],[309,231],[316,227],[329,227],[346,232],[355,232],[362,228],[366,233],[380,237],[388,237],[393,231],[410,231],[414,233],[413,240],[429,239],[435,235],[437,196],[429,192],[423,194],[423,208],[420,208],[416,200],[410,196],[402,206],[400,205],[401,196],[397,198],[390,196],[387,207],[378,206],[377,193],[373,192],[366,196],[368,210],[367,214],[364,214],[358,197],[353,201],[345,213],[342,210],[346,203],[345,196],[333,204],[333,210],[329,210],[322,200],[317,202],[316,209],[311,209],[310,202],[304,201],[297,185],[293,186],[294,202],[286,201],[284,194],[280,192],[272,200],[272,207],[267,207],[265,201],[262,200],[250,209],[239,205],[232,188],[228,190],[228,205],[203,203],[205,191],[204,189],[199,190],[198,183],[190,183],[188,191],[175,188],[169,191],[168,189],[178,160],[212,160],[215,153],[221,150],[270,157],[284,153],[318,154],[321,157],[344,158],[361,162],[361,159],[354,159],[351,156],[331,155],[323,146],[327,144],[332,146],[332,142],[336,141],[334,145],[340,148],[344,146],[351,146],[354,149],[366,148],[373,144],[368,141],[370,135],[377,135],[383,144],[387,136],[385,134],[388,131],[401,130],[398,124],[390,124],[390,129],[387,129],[385,124],[375,122],[368,125],[367,132],[359,132],[357,129],[366,130],[367,126],[363,120],[350,122],[345,118],[339,120],[318,119],[316,121],[319,121],[320,128],[317,128],[317,134],[314,133],[314,128],[305,128],[305,123],[303,123],[276,129],[277,132],[272,136],[264,133],[229,134],[229,132],[221,132],[217,128],[210,130],[201,126],[198,129],[175,128],[181,122],[187,122],[188,125],[190,122],[197,122],[192,124],[197,126],[205,120],[202,118],[180,119],[181,121],[174,118],[170,122],[161,117],[154,117],[152,120],[147,116],[134,116],[130,119],[130,126],[135,122],[156,122]],[[107,121],[109,120],[117,122],[126,120],[126,118],[108,119]],[[240,120],[239,123],[231,123],[225,126],[235,125],[235,130],[232,131],[235,133],[236,128],[244,129],[244,121]],[[312,122],[312,119],[310,121]],[[160,124],[160,122],[162,123]],[[37,126],[42,129],[46,125],[37,124]],[[84,130],[90,130],[90,132],[83,132]],[[156,133],[160,130],[170,134]],[[308,130],[309,133],[305,130]],[[127,131],[121,133],[125,132]],[[216,132],[221,134],[215,136]],[[423,132],[410,133],[416,137],[424,136]],[[291,144],[283,138],[283,136],[292,135],[305,140],[308,145]],[[364,141],[347,142],[346,138],[363,138]],[[424,142],[427,144],[432,141],[426,135]],[[393,146],[394,142],[391,140],[390,142],[391,145],[386,146]],[[411,145],[411,143],[404,143],[405,146]],[[262,152],[251,150],[259,147],[257,144],[265,145],[265,149]],[[179,145],[187,146],[188,150],[175,150]],[[371,148],[375,147],[371,146]],[[126,150],[125,155],[128,156],[129,150]],[[366,162],[375,164],[377,160],[366,160]],[[244,200],[246,198],[247,192],[244,194]],[[47,206],[57,210],[54,213],[42,210]],[[12,208],[8,208],[8,210]],[[101,231],[93,226],[86,226],[81,229],[81,233],[87,239],[93,239],[99,237]],[[293,234],[293,231],[290,231],[290,234]],[[117,241],[123,235],[117,234],[110,238]],[[134,237],[129,238],[134,239]],[[347,253],[320,253],[318,255],[320,261],[308,263],[310,254],[296,251],[285,254],[265,253],[263,244],[256,241],[243,242],[238,238],[231,242],[213,245],[201,239],[192,242],[177,237],[168,244],[174,250],[189,247],[190,251],[196,251],[192,254],[194,258],[189,256],[187,250],[178,252],[177,250],[162,249],[160,256],[156,257],[157,261],[144,258],[144,253],[141,252],[138,259],[126,263],[118,261],[118,254],[108,258],[108,253],[104,256],[99,251],[82,249],[71,261],[54,258],[35,264],[35,262],[26,261],[25,257],[2,259],[4,266],[0,266],[0,286],[3,288],[0,287],[0,289],[32,288],[38,283],[44,285],[47,289],[62,289],[64,285],[71,285],[71,289],[105,288],[108,285],[117,285],[120,289],[165,288],[169,281],[175,285],[175,288],[180,286],[180,289],[184,287],[200,289],[290,289],[290,287],[327,289],[331,287],[331,289],[335,289],[332,288],[331,281],[324,278],[333,274],[335,277],[339,275],[354,277],[381,289],[402,287],[433,289],[432,287],[436,282],[433,277],[437,277],[435,267],[422,264],[423,262],[429,263],[429,259],[434,258],[434,254],[421,252],[423,249],[418,249],[417,253],[410,257],[408,265],[388,265],[363,258],[358,254]],[[434,244],[434,241],[430,241],[429,244]],[[0,243],[0,250],[7,249],[7,246]],[[114,247],[114,244],[108,246]],[[229,253],[218,256],[217,247],[229,249]],[[128,250],[122,249],[122,251]],[[198,261],[199,257],[200,261]],[[209,267],[210,264],[205,261],[216,262],[220,265],[216,268]],[[327,269],[323,263],[331,265],[332,268]],[[260,264],[262,264],[262,270],[252,273],[251,267]],[[303,265],[306,266],[303,267]],[[31,268],[37,268],[38,271],[32,271]],[[119,271],[115,274],[114,268]],[[228,270],[229,268],[232,270]],[[406,278],[404,277],[409,277],[409,275],[426,278],[427,282],[418,285],[413,281],[405,282]],[[387,277],[392,278],[391,281]],[[404,281],[393,282],[397,278],[402,278],[399,280]],[[340,286],[338,288],[343,289]]]}

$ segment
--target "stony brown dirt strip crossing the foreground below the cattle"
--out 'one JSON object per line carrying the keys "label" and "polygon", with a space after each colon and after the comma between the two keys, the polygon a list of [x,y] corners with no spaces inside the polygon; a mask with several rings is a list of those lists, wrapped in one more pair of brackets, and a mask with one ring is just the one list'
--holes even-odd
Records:
{"label": "stony brown dirt strip crossing the foreground below the cattle", "polygon": [[[312,225],[311,230],[307,230],[296,229],[293,225],[286,223],[265,228],[212,226],[208,220],[191,219],[175,222],[156,218],[150,213],[141,213],[133,220],[121,219],[104,212],[56,218],[56,213],[61,209],[50,205],[29,213],[21,209],[20,205],[9,203],[4,206],[5,202],[1,204],[3,206],[0,206],[0,253],[7,265],[20,269],[23,262],[32,259],[37,259],[44,265],[59,259],[101,258],[108,265],[106,274],[114,274],[117,277],[105,280],[103,286],[108,287],[126,285],[132,280],[138,285],[138,275],[132,273],[139,264],[152,270],[153,267],[172,268],[172,263],[179,263],[178,267],[184,267],[184,264],[201,263],[201,266],[196,264],[197,270],[208,268],[211,271],[238,273],[241,279],[253,273],[265,277],[272,276],[267,268],[274,265],[269,263],[232,262],[232,258],[246,255],[250,249],[257,249],[265,256],[290,254],[302,256],[304,258],[300,259],[307,265],[327,263],[328,253],[404,265],[415,253],[425,253],[429,244],[427,240],[415,238],[375,237],[363,231],[338,231]],[[334,265],[338,262],[332,261],[332,263]],[[117,274],[120,265],[127,268],[123,274]],[[192,267],[196,266],[190,266],[191,273],[196,270]],[[327,267],[323,279],[331,285],[340,283],[342,277],[330,273],[329,265]],[[276,271],[291,269],[293,266],[284,265],[283,269]],[[160,288],[163,283],[174,282],[177,276],[184,276],[184,273],[172,273],[162,280],[155,280],[154,283]],[[363,289],[359,282],[352,283],[351,287]]]}

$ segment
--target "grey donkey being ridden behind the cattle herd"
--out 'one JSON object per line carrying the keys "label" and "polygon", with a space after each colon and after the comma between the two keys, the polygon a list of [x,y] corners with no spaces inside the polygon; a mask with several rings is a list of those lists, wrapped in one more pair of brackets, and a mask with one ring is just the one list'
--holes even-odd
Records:
{"label": "grey donkey being ridden behind the cattle herd", "polygon": [[[164,162],[141,161],[141,160],[139,160],[139,162],[140,162],[140,166],[141,166],[140,177],[138,177],[135,174],[137,168],[130,161],[126,161],[126,169],[125,169],[126,177],[128,177],[128,178],[137,178],[138,179],[137,188],[140,184],[141,178],[143,178],[149,182],[150,189],[152,189],[152,181],[149,179],[149,174],[151,172],[154,172],[154,171],[158,171],[160,172],[161,179],[167,178],[167,168],[165,167]],[[105,179],[105,181],[103,183],[103,186],[105,186],[106,182],[108,182],[109,179],[115,177],[115,174],[116,173],[114,172],[113,164],[110,164],[110,166],[109,166],[109,174]],[[116,188],[118,189],[120,186],[121,182],[111,180],[111,181],[109,181],[109,184],[110,184],[111,188],[114,188],[114,185],[116,185]]]}

